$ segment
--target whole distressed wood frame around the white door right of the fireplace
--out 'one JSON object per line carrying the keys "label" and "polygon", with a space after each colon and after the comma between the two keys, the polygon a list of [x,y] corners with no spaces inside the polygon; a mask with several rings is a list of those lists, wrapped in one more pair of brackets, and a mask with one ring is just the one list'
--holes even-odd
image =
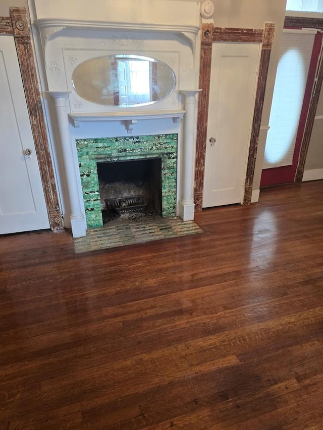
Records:
{"label": "whole distressed wood frame around the white door right of the fireplace", "polygon": [[205,169],[205,150],[208,119],[208,100],[211,76],[212,43],[214,42],[249,42],[262,43],[261,59],[258,71],[258,83],[254,116],[252,121],[251,139],[249,146],[247,173],[245,178],[245,193],[243,204],[250,204],[255,160],[257,156],[260,121],[264,102],[264,93],[268,75],[269,60],[274,40],[275,24],[265,23],[264,29],[243,28],[213,28],[212,24],[203,24],[201,38],[201,60],[199,88],[202,92],[198,99],[198,123],[195,159],[195,211],[200,212],[203,206],[203,183]]}

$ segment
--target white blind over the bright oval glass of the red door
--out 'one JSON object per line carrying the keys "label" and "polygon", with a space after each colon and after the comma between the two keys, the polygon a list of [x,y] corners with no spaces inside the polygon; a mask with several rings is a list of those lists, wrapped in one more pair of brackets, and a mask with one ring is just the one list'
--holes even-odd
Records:
{"label": "white blind over the bright oval glass of the red door", "polygon": [[283,33],[263,169],[293,164],[314,37],[300,31]]}

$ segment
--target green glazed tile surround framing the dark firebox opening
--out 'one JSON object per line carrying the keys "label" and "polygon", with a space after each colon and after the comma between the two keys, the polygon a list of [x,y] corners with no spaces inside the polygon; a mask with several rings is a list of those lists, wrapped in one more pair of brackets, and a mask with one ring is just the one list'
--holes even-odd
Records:
{"label": "green glazed tile surround framing the dark firebox opening", "polygon": [[177,134],[76,139],[87,228],[103,225],[97,162],[160,158],[163,217],[175,217],[177,142]]}

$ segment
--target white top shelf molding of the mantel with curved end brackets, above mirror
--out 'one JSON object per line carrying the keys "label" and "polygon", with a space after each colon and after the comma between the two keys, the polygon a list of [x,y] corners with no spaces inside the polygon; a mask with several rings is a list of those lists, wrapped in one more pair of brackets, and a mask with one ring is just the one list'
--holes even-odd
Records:
{"label": "white top shelf molding of the mantel with curved end brackets, above mirror", "polygon": [[60,18],[41,18],[34,21],[39,28],[41,35],[41,44],[45,52],[46,44],[50,38],[64,29],[77,30],[111,30],[111,31],[136,31],[136,32],[166,32],[177,33],[184,36],[191,45],[193,58],[195,58],[196,37],[200,30],[198,25],[182,24],[145,24],[145,23],[125,23],[125,22],[106,22],[106,21],[79,21]]}

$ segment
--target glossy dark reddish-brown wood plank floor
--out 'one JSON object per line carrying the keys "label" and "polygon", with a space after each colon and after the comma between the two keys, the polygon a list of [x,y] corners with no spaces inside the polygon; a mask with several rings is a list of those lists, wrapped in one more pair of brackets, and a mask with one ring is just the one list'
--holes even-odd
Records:
{"label": "glossy dark reddish-brown wood plank floor", "polygon": [[323,428],[323,181],[75,254],[0,238],[0,429]]}

